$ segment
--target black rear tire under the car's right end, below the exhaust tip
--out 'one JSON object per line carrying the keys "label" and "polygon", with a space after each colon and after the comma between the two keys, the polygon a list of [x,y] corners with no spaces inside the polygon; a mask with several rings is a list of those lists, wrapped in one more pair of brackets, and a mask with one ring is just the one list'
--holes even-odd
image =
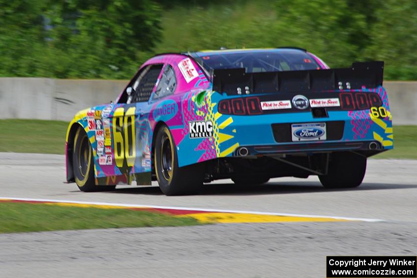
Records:
{"label": "black rear tire under the car's right end, below the exhaust tip", "polygon": [[353,188],[361,185],[366,172],[366,157],[353,152],[332,153],[327,175],[318,179],[325,188]]}

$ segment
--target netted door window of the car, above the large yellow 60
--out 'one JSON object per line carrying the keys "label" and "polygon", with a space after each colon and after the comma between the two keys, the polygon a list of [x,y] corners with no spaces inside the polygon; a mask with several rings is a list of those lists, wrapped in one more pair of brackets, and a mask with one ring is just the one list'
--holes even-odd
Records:
{"label": "netted door window of the car, above the large yellow 60", "polygon": [[155,88],[163,65],[147,66],[131,84],[132,94],[127,103],[148,101]]}

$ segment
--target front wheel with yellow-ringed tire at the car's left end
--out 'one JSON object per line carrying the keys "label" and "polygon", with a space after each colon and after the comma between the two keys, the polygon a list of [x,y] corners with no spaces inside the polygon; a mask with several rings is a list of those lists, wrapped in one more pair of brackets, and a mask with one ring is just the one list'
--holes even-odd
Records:
{"label": "front wheel with yellow-ringed tire at the car's left end", "polygon": [[114,190],[115,185],[96,185],[94,180],[93,150],[90,140],[82,128],[78,128],[73,148],[74,179],[78,189],[84,192]]}

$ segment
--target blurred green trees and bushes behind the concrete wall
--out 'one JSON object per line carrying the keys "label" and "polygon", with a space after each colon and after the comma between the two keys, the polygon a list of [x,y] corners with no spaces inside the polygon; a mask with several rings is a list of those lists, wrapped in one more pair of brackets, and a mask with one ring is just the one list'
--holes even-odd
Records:
{"label": "blurred green trees and bushes behind the concrete wall", "polygon": [[0,76],[127,79],[159,52],[297,46],[417,79],[416,0],[0,0]]}

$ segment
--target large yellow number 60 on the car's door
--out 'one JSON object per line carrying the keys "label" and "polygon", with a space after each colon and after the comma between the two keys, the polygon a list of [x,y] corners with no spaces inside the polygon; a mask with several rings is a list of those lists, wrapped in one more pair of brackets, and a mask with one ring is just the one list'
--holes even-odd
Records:
{"label": "large yellow number 60 on the car's door", "polygon": [[120,107],[113,114],[114,160],[116,166],[123,167],[126,158],[128,167],[133,167],[136,157],[134,112],[136,107],[126,110]]}

